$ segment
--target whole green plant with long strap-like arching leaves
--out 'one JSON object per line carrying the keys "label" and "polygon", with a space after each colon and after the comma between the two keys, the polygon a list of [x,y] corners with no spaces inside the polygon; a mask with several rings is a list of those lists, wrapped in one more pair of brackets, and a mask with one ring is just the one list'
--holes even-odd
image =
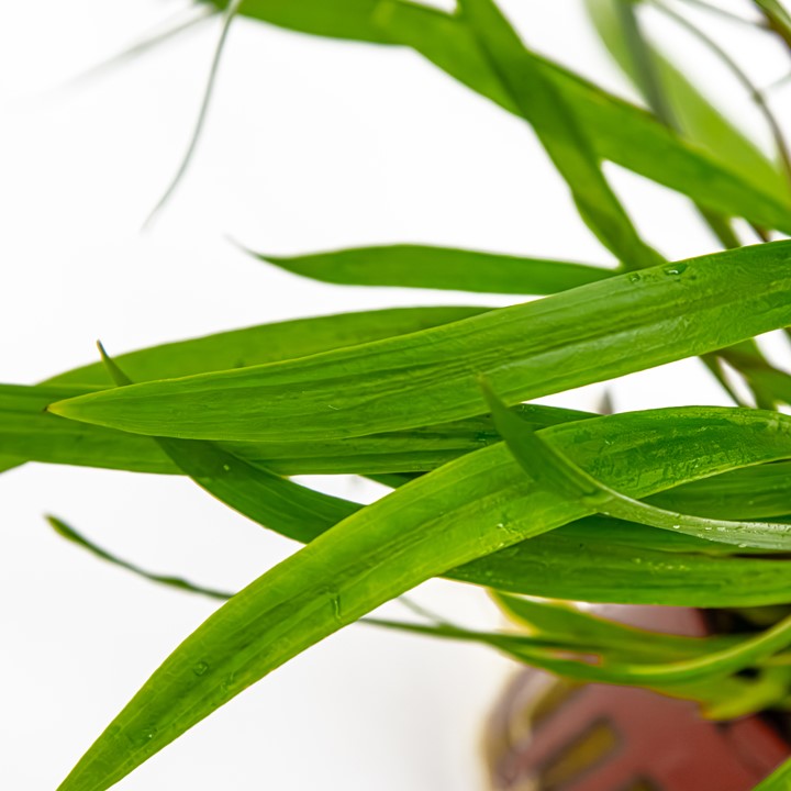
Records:
{"label": "whole green plant with long strap-like arching leaves", "polygon": [[[675,7],[651,4],[691,25]],[[791,245],[771,241],[791,234],[786,144],[749,77],[708,33],[692,25],[756,93],[777,161],[648,43],[638,3],[589,5],[648,110],[535,55],[492,0],[460,0],[455,13],[402,0],[225,9],[229,21],[238,13],[416,49],[533,126],[582,220],[621,264],[414,245],[264,255],[336,283],[552,296],[491,311],[286,322],[114,361],[102,352],[103,363],[43,385],[3,387],[5,468],[40,460],[186,475],[307,544],[176,649],[63,791],[110,788],[266,673],[435,576],[494,590],[530,633],[380,625],[690,698],[714,717],[789,706],[791,419],[778,408],[791,403],[791,379],[755,341],[791,325]],[[756,7],[767,36],[791,38],[782,7]],[[665,260],[611,189],[604,160],[688,196],[727,249]],[[742,247],[750,231],[737,219],[764,243]],[[522,403],[695,355],[736,406],[594,415]],[[361,508],[288,478],[302,472],[367,475],[392,492]],[[636,636],[517,594],[734,609],[756,627]],[[778,775],[761,788],[782,783]]]}

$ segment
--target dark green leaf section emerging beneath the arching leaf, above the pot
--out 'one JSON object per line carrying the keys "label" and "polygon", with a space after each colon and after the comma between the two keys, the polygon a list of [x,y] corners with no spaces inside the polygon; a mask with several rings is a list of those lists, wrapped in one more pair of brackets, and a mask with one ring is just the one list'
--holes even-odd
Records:
{"label": "dark green leaf section emerging beneath the arching leaf, above the pot", "polygon": [[716,546],[632,522],[589,517],[449,576],[512,593],[617,604],[727,608],[789,601],[787,556],[712,554],[702,544]]}

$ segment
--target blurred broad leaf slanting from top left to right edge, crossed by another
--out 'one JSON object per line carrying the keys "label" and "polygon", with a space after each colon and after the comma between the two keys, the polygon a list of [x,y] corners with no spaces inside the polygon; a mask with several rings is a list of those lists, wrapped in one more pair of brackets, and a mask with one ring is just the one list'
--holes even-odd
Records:
{"label": "blurred broad leaf slanting from top left to right edge, crossed by another", "polygon": [[[224,8],[225,2],[214,2]],[[245,2],[239,13],[305,33],[400,44],[421,53],[461,83],[520,111],[476,44],[474,31],[459,15],[403,0],[346,0],[338,13],[321,0]],[[731,164],[657,123],[649,113],[603,91],[534,53],[586,130],[599,157],[689,196],[726,215],[791,233],[791,204],[783,193],[744,179]]]}

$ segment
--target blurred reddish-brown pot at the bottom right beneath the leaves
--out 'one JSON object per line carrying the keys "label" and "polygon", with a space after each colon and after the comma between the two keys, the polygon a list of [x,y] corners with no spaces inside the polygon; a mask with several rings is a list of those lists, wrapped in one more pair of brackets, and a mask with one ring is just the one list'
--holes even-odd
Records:
{"label": "blurred reddish-brown pot at the bottom right beneath the leaves", "polygon": [[[709,631],[694,610],[601,612],[675,634]],[[711,722],[687,701],[532,669],[505,689],[486,747],[495,791],[750,791],[791,755],[780,728],[762,716]]]}

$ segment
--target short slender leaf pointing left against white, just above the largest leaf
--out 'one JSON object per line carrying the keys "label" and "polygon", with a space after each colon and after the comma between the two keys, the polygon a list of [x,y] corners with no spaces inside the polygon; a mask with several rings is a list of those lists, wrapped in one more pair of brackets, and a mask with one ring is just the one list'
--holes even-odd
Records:
{"label": "short slender leaf pointing left against white, just above the largest leaf", "polygon": [[357,247],[289,257],[256,255],[294,275],[324,282],[482,293],[550,294],[614,274],[582,264],[421,245]]}

